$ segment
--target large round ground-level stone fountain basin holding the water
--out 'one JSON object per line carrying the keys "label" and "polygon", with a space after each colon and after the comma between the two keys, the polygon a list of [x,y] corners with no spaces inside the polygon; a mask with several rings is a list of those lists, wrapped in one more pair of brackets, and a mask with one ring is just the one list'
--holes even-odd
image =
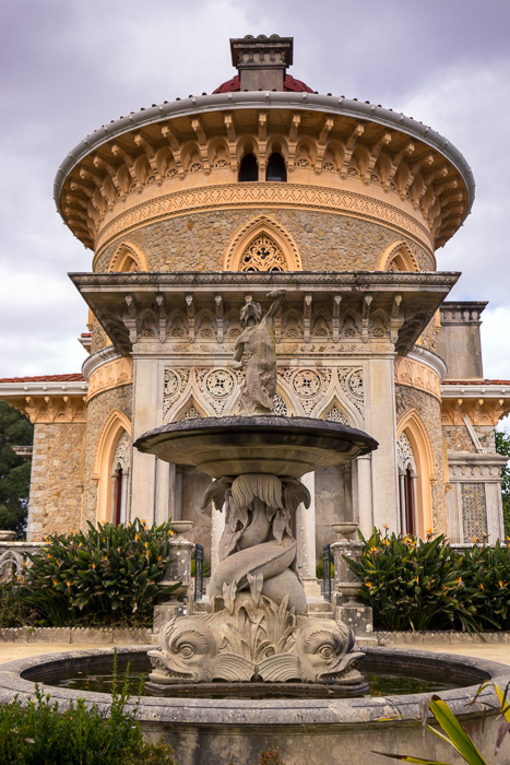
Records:
{"label": "large round ground-level stone fountain basin holding the water", "polygon": [[[119,659],[135,660],[151,646],[118,648]],[[370,664],[382,670],[393,668],[408,673],[434,670],[444,678],[466,683],[466,687],[441,692],[452,711],[481,749],[487,763],[502,765],[510,762],[510,735],[501,751],[494,756],[497,729],[501,722],[496,713],[485,714],[484,702],[494,703],[487,690],[474,705],[479,683],[494,680],[501,687],[510,682],[510,667],[448,654],[366,648]],[[23,702],[34,697],[35,681],[44,693],[50,693],[61,707],[71,701],[84,698],[105,711],[109,694],[71,691],[44,684],[45,676],[56,671],[94,667],[111,662],[112,648],[69,651],[32,657],[0,666],[0,703],[14,696]],[[161,698],[144,696],[140,699],[139,719],[149,741],[161,737],[170,743],[179,765],[217,763],[230,760],[237,765],[258,761],[261,751],[281,746],[289,765],[323,765],[348,762],[349,765],[383,765],[389,760],[373,754],[373,750],[400,754],[428,756],[459,765],[464,761],[431,733],[423,739],[419,723],[419,703],[426,694],[395,695],[361,698]],[[135,701],[129,705],[134,709]],[[387,719],[391,718],[391,719]]]}

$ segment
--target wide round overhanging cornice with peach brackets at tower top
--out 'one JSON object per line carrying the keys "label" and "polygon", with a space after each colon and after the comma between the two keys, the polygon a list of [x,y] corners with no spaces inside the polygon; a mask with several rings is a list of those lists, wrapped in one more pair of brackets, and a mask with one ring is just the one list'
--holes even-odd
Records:
{"label": "wide round overhanging cornice with peach brackets at tower top", "polygon": [[359,189],[371,200],[388,195],[428,228],[435,247],[453,235],[471,209],[471,169],[456,149],[426,126],[345,98],[256,92],[163,104],[104,126],[59,168],[54,191],[58,210],[93,247],[107,217],[135,205],[139,195],[157,198],[198,184],[228,185],[237,178],[247,136],[261,178],[274,139],[303,189],[320,176],[334,190]]}

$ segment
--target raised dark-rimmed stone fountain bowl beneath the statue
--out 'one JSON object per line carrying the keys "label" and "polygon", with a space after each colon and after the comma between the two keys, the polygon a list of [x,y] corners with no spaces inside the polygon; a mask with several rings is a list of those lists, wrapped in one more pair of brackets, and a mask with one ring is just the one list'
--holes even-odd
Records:
{"label": "raised dark-rimmed stone fountain bowl beneath the statue", "polygon": [[351,462],[378,443],[363,431],[324,420],[259,415],[173,422],[145,433],[134,446],[214,479],[246,473],[300,478]]}

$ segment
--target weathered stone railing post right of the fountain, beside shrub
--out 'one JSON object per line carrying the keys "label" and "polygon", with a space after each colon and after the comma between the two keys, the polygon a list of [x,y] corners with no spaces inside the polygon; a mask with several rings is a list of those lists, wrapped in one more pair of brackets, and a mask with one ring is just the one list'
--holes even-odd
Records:
{"label": "weathered stone railing post right of the fountain, beside shrub", "polygon": [[[341,533],[343,539],[340,542],[334,542],[331,545],[334,556],[334,582],[333,582],[333,604],[334,617],[344,622],[354,632],[356,638],[371,637],[373,632],[372,610],[369,605],[357,600],[359,593],[359,579],[351,569],[347,562],[344,560],[356,558],[361,555],[363,545],[359,542],[352,541],[352,528],[342,528],[344,525],[335,525],[333,527],[337,533]],[[345,527],[355,525],[345,525]],[[339,528],[336,528],[339,527]]]}

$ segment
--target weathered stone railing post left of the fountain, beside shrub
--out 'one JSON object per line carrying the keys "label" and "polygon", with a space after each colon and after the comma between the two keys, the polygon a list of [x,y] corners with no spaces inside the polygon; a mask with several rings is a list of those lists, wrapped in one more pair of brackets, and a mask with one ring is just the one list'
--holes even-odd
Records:
{"label": "weathered stone railing post left of the fountain, beside shrub", "polygon": [[[193,527],[190,520],[176,520],[170,525],[174,537],[170,540],[170,563],[159,582],[162,600],[154,607],[153,633],[157,635],[162,626],[174,616],[188,616],[193,610],[193,582],[191,580],[191,556],[194,544],[182,538]],[[180,586],[169,591],[171,587]]]}

